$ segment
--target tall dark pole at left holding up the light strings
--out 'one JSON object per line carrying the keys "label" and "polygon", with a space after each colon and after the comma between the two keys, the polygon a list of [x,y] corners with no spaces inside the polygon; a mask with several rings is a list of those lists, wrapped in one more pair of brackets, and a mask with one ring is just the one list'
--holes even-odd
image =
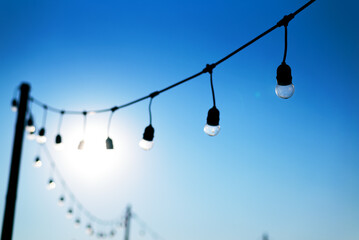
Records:
{"label": "tall dark pole at left holding up the light strings", "polygon": [[11,168],[9,183],[6,195],[5,213],[2,225],[1,240],[11,240],[14,227],[14,215],[16,206],[16,193],[20,172],[20,160],[22,150],[22,140],[24,137],[25,117],[27,102],[29,99],[30,85],[23,83],[20,87],[20,103],[17,111],[15,128],[15,139],[12,149]]}

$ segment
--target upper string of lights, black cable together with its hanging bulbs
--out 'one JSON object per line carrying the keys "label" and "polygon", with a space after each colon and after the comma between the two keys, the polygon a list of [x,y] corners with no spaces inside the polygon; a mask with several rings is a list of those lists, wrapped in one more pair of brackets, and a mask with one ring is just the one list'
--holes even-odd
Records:
{"label": "upper string of lights, black cable together with its hanging bulbs", "polygon": [[[121,108],[125,108],[128,106],[131,106],[135,103],[141,102],[145,99],[150,98],[150,104],[149,104],[149,114],[150,114],[150,124],[145,128],[144,134],[143,134],[143,138],[141,139],[139,146],[145,150],[149,150],[153,147],[153,138],[154,138],[154,128],[152,126],[152,115],[151,115],[151,104],[152,104],[152,100],[154,97],[156,97],[157,95],[166,92],[174,87],[177,87],[185,82],[188,82],[194,78],[199,77],[200,75],[204,74],[204,73],[209,73],[210,75],[210,84],[211,84],[211,90],[212,90],[212,98],[213,98],[213,107],[211,109],[209,109],[208,111],[208,115],[207,115],[207,122],[205,124],[204,127],[204,132],[206,134],[208,134],[209,136],[216,136],[219,133],[220,130],[220,125],[219,125],[219,110],[216,107],[216,101],[215,101],[215,95],[214,95],[214,88],[213,88],[213,79],[212,79],[212,74],[213,74],[213,70],[222,62],[228,60],[229,58],[231,58],[232,56],[234,56],[235,54],[237,54],[238,52],[240,52],[241,50],[243,50],[244,48],[250,46],[251,44],[253,44],[254,42],[256,42],[257,40],[261,39],[262,37],[264,37],[265,35],[267,35],[268,33],[272,32],[273,30],[279,28],[279,27],[284,27],[285,29],[285,46],[284,46],[284,57],[283,57],[283,61],[282,63],[279,65],[279,67],[277,68],[277,85],[275,88],[275,92],[277,94],[278,97],[283,98],[283,99],[287,99],[290,98],[293,94],[294,94],[294,85],[292,83],[292,75],[291,75],[291,68],[286,64],[286,56],[287,56],[287,45],[288,45],[288,41],[287,41],[287,35],[288,35],[288,24],[289,22],[301,11],[303,11],[305,8],[307,8],[309,5],[311,5],[313,2],[315,2],[315,0],[311,0],[309,2],[307,2],[305,5],[303,5],[301,8],[299,8],[297,11],[295,11],[294,13],[291,13],[289,15],[284,16],[279,22],[277,22],[277,24],[275,24],[273,27],[271,27],[270,29],[268,29],[267,31],[265,31],[264,33],[258,35],[257,37],[255,37],[254,39],[252,39],[251,41],[247,42],[246,44],[244,44],[243,46],[241,46],[240,48],[236,49],[235,51],[233,51],[232,53],[228,54],[227,56],[225,56],[224,58],[220,59],[219,61],[213,63],[213,64],[207,64],[206,67],[188,77],[185,78],[182,81],[179,81],[175,84],[172,84],[162,90],[159,91],[155,91],[147,96],[144,96],[142,98],[136,99],[134,101],[128,102],[126,104],[120,105],[120,106],[114,106],[112,108],[106,108],[106,109],[100,109],[100,110],[92,110],[92,111],[68,111],[68,110],[60,110],[58,108],[55,107],[50,107],[47,104],[44,104],[42,102],[40,102],[39,100],[37,100],[34,97],[30,97],[30,101],[40,105],[44,108],[44,120],[43,120],[43,127],[40,129],[39,133],[38,133],[38,141],[40,143],[44,143],[46,141],[46,136],[45,136],[45,122],[46,122],[46,113],[47,110],[52,111],[52,112],[56,112],[60,114],[60,121],[59,121],[59,127],[58,129],[60,129],[61,127],[61,122],[62,122],[62,117],[64,114],[82,114],[84,116],[84,130],[83,130],[83,139],[80,141],[79,145],[78,145],[78,149],[84,149],[85,148],[85,132],[86,132],[86,119],[87,119],[87,113],[90,114],[96,114],[96,113],[105,113],[105,112],[111,112],[110,118],[109,118],[109,123],[108,123],[108,131],[107,131],[107,139],[106,139],[106,148],[107,149],[113,149],[114,145],[113,145],[113,141],[109,136],[109,131],[110,131],[110,124],[111,124],[111,119],[112,116],[114,114],[115,111],[121,109]],[[13,102],[12,102],[12,109],[15,109],[15,107],[17,107],[17,101],[14,98]],[[31,115],[30,115],[31,116]],[[31,122],[30,122],[31,123]],[[58,135],[56,136],[55,139],[55,144],[59,147],[62,148],[62,138],[60,135],[60,132],[58,133]]]}

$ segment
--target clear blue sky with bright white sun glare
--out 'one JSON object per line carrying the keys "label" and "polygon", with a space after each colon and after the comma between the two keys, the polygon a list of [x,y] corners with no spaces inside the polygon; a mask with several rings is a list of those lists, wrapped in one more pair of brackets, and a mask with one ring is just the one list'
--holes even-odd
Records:
{"label": "clear blue sky with bright white sun glare", "polygon": [[[273,26],[305,1],[1,1],[0,215],[16,114],[9,103],[26,81],[31,95],[74,110],[108,108],[202,70]],[[317,1],[289,24],[294,96],[275,93],[284,30],[277,29],[214,70],[221,132],[203,132],[212,107],[209,76],[156,97],[154,148],[138,147],[148,101],[115,113],[115,150],[80,154],[82,117],[65,115],[63,152],[47,147],[76,198],[102,219],[127,204],[166,240],[356,240],[359,238],[359,33],[355,1]],[[42,109],[33,106],[36,123]],[[106,138],[109,114],[88,118]],[[102,140],[103,139],[103,140]],[[25,141],[13,239],[90,239],[66,208],[52,172],[32,167]],[[54,176],[55,181],[56,175]],[[0,219],[2,223],[2,218]],[[109,229],[96,226],[100,231]],[[131,239],[151,239],[133,222]],[[119,229],[117,239],[123,237]],[[92,237],[93,238],[93,237]]]}

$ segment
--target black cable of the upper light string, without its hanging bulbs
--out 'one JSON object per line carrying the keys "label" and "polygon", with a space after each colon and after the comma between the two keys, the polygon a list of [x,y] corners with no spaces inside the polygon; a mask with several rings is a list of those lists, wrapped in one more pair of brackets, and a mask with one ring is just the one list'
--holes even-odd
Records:
{"label": "black cable of the upper light string, without its hanging bulbs", "polygon": [[[312,3],[314,3],[316,0],[310,0],[308,1],[306,4],[304,4],[302,7],[300,7],[299,9],[297,9],[294,13],[291,13],[289,15],[286,15],[284,16],[277,24],[275,24],[273,27],[269,28],[268,30],[266,30],[265,32],[263,32],[262,34],[258,35],[257,37],[253,38],[252,40],[250,40],[249,42],[247,42],[246,44],[242,45],[241,47],[239,47],[238,49],[234,50],[233,52],[231,52],[230,54],[226,55],[225,57],[223,57],[222,59],[220,59],[219,61],[215,62],[212,64],[213,68],[218,66],[219,64],[221,64],[222,62],[228,60],[229,58],[231,58],[232,56],[234,56],[235,54],[237,54],[238,52],[242,51],[243,49],[245,49],[246,47],[252,45],[254,42],[258,41],[259,39],[261,39],[262,37],[266,36],[267,34],[269,34],[270,32],[272,32],[273,30],[275,30],[276,28],[278,27],[282,27],[284,26],[285,24],[288,24],[298,13],[302,12],[304,9],[306,9],[309,5],[311,5]],[[203,69],[202,71],[188,77],[188,78],[185,78],[179,82],[176,82],[166,88],[163,88],[162,90],[159,90],[159,91],[156,91],[155,93],[158,95],[160,93],[163,93],[163,92],[166,92],[174,87],[177,87],[187,81],[190,81],[194,78],[197,78],[198,76],[202,75],[203,73],[207,73],[207,68]],[[121,109],[121,108],[125,108],[125,107],[128,107],[128,106],[131,106],[135,103],[138,103],[138,102],[141,102],[147,98],[151,98],[152,97],[152,93],[147,95],[147,96],[144,96],[144,97],[141,97],[141,98],[138,98],[136,100],[133,100],[131,102],[128,102],[126,104],[123,104],[123,105],[120,105],[120,106],[116,106],[117,109]],[[35,104],[37,105],[44,105],[44,103],[42,103],[41,101],[35,99],[34,97],[30,97],[30,101],[34,102]],[[59,109],[59,108],[55,108],[55,107],[51,107],[49,106],[48,109],[50,111],[53,111],[53,112],[58,112],[60,113],[62,110]],[[113,108],[105,108],[105,109],[100,109],[100,110],[93,110],[93,111],[87,111],[87,112],[93,112],[93,113],[104,113],[104,112],[109,112],[111,111]],[[66,110],[66,113],[67,114],[82,114],[81,111],[70,111],[70,110]]]}

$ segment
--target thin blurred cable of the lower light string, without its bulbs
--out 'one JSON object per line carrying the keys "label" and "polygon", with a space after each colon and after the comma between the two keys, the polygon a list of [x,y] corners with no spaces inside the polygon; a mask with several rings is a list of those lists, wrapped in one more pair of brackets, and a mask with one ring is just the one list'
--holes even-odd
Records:
{"label": "thin blurred cable of the lower light string, without its bulbs", "polygon": [[[40,144],[39,144],[40,145]],[[77,208],[78,210],[82,211],[82,213],[84,213],[84,215],[86,217],[88,217],[89,219],[91,218],[91,220],[99,225],[103,225],[103,226],[114,226],[115,224],[121,222],[121,218],[122,217],[118,217],[112,220],[103,220],[100,219],[98,217],[96,217],[94,214],[92,214],[79,200],[78,198],[75,196],[75,194],[71,191],[71,189],[69,188],[68,184],[66,183],[63,175],[61,174],[60,170],[56,167],[56,163],[50,153],[50,151],[48,150],[46,143],[42,144],[41,148],[43,149],[43,152],[46,155],[46,160],[49,161],[50,165],[53,168],[54,171],[54,175],[57,176],[57,178],[60,180],[60,185],[62,186],[64,192],[66,192],[66,195],[70,197],[71,201],[73,204],[71,204],[71,206],[77,206],[78,204],[80,204],[82,206],[82,209]],[[77,203],[77,204],[75,204]]]}

